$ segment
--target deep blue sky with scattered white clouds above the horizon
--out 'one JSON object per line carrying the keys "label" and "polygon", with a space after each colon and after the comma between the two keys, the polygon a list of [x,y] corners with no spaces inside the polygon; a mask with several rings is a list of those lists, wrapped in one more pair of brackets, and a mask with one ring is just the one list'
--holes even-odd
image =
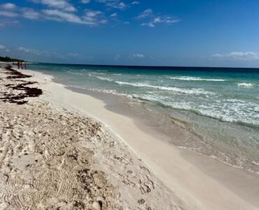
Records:
{"label": "deep blue sky with scattered white clouds above the horizon", "polygon": [[259,68],[259,1],[1,0],[0,56]]}

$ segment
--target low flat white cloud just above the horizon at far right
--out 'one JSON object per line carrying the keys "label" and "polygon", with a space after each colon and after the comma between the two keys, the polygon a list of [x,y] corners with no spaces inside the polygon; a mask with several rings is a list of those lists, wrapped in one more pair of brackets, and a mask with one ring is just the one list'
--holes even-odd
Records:
{"label": "low flat white cloud just above the horizon at far right", "polygon": [[244,60],[255,61],[259,60],[259,52],[230,52],[228,54],[214,54],[212,57],[219,59],[232,59],[232,60]]}

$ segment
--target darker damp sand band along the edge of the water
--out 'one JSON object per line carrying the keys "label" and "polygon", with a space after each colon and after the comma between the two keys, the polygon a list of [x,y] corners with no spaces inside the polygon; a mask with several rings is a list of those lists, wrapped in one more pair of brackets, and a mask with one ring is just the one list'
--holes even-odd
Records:
{"label": "darker damp sand band along the edge of the water", "polygon": [[[165,141],[165,143],[170,146],[174,147],[172,144],[179,145],[180,148],[177,149],[182,158],[194,166],[199,167],[204,174],[207,174],[222,183],[223,186],[226,186],[241,199],[244,199],[255,205],[255,207],[258,207],[258,174],[248,172],[244,169],[230,167],[223,162],[215,160],[214,158],[209,158],[206,155],[194,153],[193,151],[186,151],[186,149],[181,148],[183,142],[179,144],[179,141],[183,141],[186,135],[189,137],[190,135],[193,135],[193,141],[199,141],[199,137],[188,131],[188,128],[186,128],[181,122],[177,123],[171,119],[167,119],[168,122],[166,123],[155,122],[154,118],[156,118],[156,116],[154,116],[154,113],[145,110],[145,106],[142,106],[141,103],[132,102],[132,100],[125,97],[71,87],[69,87],[69,90],[88,94],[96,99],[102,100],[102,102],[105,103],[105,109],[108,109],[113,113],[118,113],[120,115],[127,116],[128,118],[132,118],[140,130],[151,134],[153,137],[160,139],[161,141]],[[166,125],[168,123],[171,123],[173,126],[169,126],[168,128],[161,127],[162,125]]]}

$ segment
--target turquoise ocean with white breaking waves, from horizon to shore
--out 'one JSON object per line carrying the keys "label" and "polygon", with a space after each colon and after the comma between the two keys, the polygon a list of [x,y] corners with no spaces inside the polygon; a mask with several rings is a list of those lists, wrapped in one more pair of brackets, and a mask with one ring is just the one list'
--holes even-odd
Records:
{"label": "turquoise ocean with white breaking waves, from horizon to shore", "polygon": [[28,68],[85,94],[142,103],[167,130],[180,123],[192,133],[172,144],[259,174],[259,69],[43,63]]}

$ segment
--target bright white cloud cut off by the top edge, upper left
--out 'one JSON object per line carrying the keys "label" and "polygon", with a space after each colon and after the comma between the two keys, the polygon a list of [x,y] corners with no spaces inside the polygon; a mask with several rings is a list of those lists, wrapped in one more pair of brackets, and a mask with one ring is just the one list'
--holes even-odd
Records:
{"label": "bright white cloud cut off by the top edge, upper left", "polygon": [[72,6],[71,3],[69,3],[66,0],[31,0],[31,1],[33,1],[34,3],[44,4],[50,8],[64,10],[66,12],[76,11],[76,8],[74,8],[74,6]]}

